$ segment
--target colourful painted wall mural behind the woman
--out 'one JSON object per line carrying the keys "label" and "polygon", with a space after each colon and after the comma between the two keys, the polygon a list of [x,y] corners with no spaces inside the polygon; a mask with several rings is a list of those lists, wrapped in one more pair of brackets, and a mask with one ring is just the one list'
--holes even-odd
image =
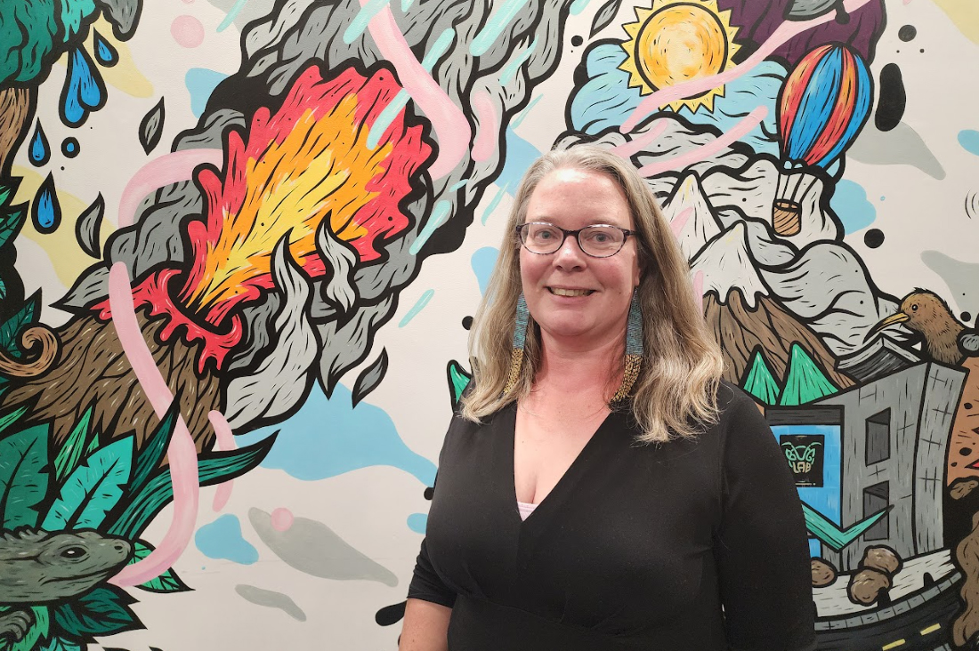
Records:
{"label": "colourful painted wall mural behind the woman", "polygon": [[951,0],[0,0],[0,651],[396,648],[583,142],[785,452],[819,648],[975,647],[977,57]]}

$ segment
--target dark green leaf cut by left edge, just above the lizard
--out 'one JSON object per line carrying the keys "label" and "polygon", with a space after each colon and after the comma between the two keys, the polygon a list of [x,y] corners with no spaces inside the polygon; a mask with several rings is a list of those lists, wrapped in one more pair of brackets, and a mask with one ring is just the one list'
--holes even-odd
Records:
{"label": "dark green leaf cut by left edge, just above the lizard", "polygon": [[49,426],[35,425],[0,441],[0,529],[35,527],[35,507],[48,491]]}

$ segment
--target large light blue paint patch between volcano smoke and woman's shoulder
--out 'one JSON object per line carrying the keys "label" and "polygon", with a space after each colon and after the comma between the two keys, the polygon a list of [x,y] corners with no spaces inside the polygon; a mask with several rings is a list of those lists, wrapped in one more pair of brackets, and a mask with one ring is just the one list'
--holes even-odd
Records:
{"label": "large light blue paint patch between volcano smoke and woman's shoulder", "polygon": [[327,398],[314,383],[294,415],[238,438],[248,445],[278,431],[262,467],[282,470],[305,482],[360,468],[391,466],[416,477],[422,486],[432,486],[435,464],[408,449],[391,416],[366,400],[355,407],[351,403],[350,390],[343,385],[338,384]]}

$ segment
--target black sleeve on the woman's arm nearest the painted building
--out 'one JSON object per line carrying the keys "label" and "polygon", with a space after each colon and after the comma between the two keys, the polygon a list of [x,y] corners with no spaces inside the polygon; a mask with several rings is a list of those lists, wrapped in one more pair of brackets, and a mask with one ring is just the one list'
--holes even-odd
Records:
{"label": "black sleeve on the woman's arm nearest the painted building", "polygon": [[728,644],[732,651],[812,651],[812,570],[792,473],[750,398],[736,395],[723,419],[715,556]]}

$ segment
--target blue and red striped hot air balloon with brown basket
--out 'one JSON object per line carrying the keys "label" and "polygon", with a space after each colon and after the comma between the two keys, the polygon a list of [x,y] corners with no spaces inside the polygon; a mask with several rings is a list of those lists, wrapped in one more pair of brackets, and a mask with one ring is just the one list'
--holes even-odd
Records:
{"label": "blue and red striped hot air balloon with brown basket", "polygon": [[[872,98],[870,71],[859,54],[841,43],[810,51],[785,79],[778,96],[782,164],[786,171],[808,167],[811,173],[779,177],[772,207],[779,235],[799,232],[799,199],[816,182],[812,172],[825,170],[846,151],[870,115]],[[789,188],[793,177],[795,185]]]}

